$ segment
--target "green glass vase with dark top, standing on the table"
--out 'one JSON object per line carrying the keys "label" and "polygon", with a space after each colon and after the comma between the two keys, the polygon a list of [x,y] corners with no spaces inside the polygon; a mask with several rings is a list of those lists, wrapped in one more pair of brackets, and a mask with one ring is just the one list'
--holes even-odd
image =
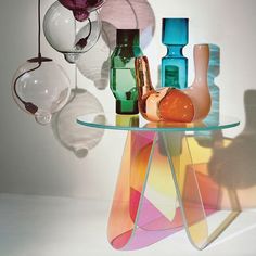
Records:
{"label": "green glass vase with dark top, standing on the table", "polygon": [[135,57],[141,55],[139,29],[117,29],[116,48],[111,56],[111,90],[117,114],[139,113]]}

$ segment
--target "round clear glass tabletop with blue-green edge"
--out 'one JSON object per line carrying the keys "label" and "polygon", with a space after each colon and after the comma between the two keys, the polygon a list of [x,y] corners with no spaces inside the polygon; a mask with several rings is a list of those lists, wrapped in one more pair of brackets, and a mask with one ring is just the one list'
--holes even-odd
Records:
{"label": "round clear glass tabletop with blue-green edge", "polygon": [[240,125],[236,118],[228,116],[220,116],[219,120],[205,119],[197,123],[149,123],[141,115],[117,115],[113,113],[78,116],[77,123],[101,129],[161,132],[222,130]]}

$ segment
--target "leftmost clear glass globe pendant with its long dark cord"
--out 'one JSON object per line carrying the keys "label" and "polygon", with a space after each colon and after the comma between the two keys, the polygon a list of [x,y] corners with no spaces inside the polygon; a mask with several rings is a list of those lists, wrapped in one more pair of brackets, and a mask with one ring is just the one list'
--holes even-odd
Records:
{"label": "leftmost clear glass globe pendant with its long dark cord", "polygon": [[38,0],[38,55],[26,61],[13,77],[12,93],[17,105],[47,125],[60,111],[71,93],[69,78],[64,69],[40,52],[40,0]]}

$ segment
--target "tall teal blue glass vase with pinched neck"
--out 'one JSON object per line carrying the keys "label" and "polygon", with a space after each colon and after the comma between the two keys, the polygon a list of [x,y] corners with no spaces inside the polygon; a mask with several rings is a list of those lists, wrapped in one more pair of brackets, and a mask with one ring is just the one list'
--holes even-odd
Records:
{"label": "tall teal blue glass vase with pinched neck", "polygon": [[162,87],[188,87],[188,59],[182,49],[188,44],[188,18],[163,18],[162,42],[167,54],[162,59]]}

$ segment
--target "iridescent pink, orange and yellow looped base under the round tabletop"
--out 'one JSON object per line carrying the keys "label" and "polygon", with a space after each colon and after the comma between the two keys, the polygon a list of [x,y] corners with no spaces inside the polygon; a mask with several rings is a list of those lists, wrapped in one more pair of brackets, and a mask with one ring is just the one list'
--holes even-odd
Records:
{"label": "iridescent pink, orange and yellow looped base under the round tabletop", "polygon": [[129,131],[108,219],[112,246],[138,249],[185,228],[191,243],[204,248],[229,221],[208,234],[217,199],[202,197],[201,181],[183,133]]}

